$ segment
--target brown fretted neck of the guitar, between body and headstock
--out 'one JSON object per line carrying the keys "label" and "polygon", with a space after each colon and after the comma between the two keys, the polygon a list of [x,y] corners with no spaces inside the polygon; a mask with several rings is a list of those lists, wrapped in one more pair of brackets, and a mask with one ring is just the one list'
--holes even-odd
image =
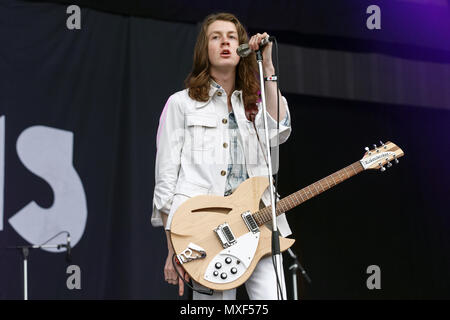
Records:
{"label": "brown fretted neck of the guitar, between body and headstock", "polygon": [[[309,186],[294,192],[293,194],[281,199],[276,205],[276,215],[295,208],[301,203],[314,198],[322,192],[333,188],[339,183],[357,175],[361,171],[364,171],[363,166],[359,161],[352,163],[351,165],[341,169]],[[261,226],[269,221],[272,221],[272,206],[267,206],[253,214],[256,223]]]}

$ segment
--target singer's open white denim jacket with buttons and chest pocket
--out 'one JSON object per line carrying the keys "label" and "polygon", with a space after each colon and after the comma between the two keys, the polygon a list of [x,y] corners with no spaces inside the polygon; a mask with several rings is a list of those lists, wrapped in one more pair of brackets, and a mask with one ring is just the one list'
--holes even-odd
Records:
{"label": "singer's open white denim jacket with buttons and chest pocket", "polygon": [[[190,197],[211,194],[224,195],[229,162],[228,105],[225,90],[211,84],[209,100],[200,102],[189,97],[187,89],[176,92],[168,99],[159,120],[156,138],[155,189],[151,223],[162,226],[161,214],[168,214],[166,230],[177,208]],[[282,97],[284,102],[287,102]],[[253,123],[247,120],[242,92],[234,91],[231,104],[239,128],[249,177],[268,175],[265,151],[261,149]],[[262,146],[265,148],[264,119],[261,105],[255,117],[255,125]],[[286,108],[289,113],[289,109]],[[289,114],[290,118],[290,114]],[[267,117],[271,147],[276,147],[276,120]],[[291,126],[280,123],[280,144],[287,140]],[[272,161],[273,162],[273,161]],[[273,172],[277,164],[273,164]],[[269,188],[262,201],[270,205]],[[284,214],[277,218],[282,236],[291,234]]]}

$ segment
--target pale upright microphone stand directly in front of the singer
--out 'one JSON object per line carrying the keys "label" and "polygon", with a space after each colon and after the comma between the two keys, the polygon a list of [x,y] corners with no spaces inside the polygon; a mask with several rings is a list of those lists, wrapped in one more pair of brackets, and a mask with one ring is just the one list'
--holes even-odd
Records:
{"label": "pale upright microphone stand directly in front of the singer", "polygon": [[[267,166],[269,168],[269,188],[270,188],[270,202],[272,209],[272,256],[275,258],[275,268],[277,273],[277,282],[278,277],[282,275],[282,262],[281,262],[281,252],[280,252],[280,238],[277,226],[277,215],[275,212],[275,197],[274,197],[274,186],[273,186],[273,176],[272,176],[272,158],[270,156],[270,140],[269,140],[269,126],[267,124],[267,107],[266,107],[266,92],[264,88],[264,73],[263,73],[263,56],[261,49],[256,50],[256,62],[258,63],[259,69],[259,83],[261,89],[261,102],[263,109],[263,119],[264,119],[264,127],[265,130],[265,140],[266,140],[266,159]],[[277,283],[278,288],[278,283]],[[277,289],[278,290],[278,289]],[[281,298],[283,298],[283,292],[281,290]]]}

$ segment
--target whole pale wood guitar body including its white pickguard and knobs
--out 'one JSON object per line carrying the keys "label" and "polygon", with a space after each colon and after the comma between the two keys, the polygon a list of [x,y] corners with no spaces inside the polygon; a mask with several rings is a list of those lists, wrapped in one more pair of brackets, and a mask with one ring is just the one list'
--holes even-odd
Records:
{"label": "whole pale wood guitar body including its white pickguard and knobs", "polygon": [[[213,290],[236,288],[251,276],[258,261],[271,253],[271,230],[262,225],[255,232],[241,216],[259,210],[268,185],[266,177],[253,177],[227,197],[201,195],[180,205],[172,219],[171,241],[194,281]],[[216,230],[224,224],[223,230]],[[235,239],[232,244],[223,236],[228,230]],[[280,237],[280,250],[287,250],[294,242]]]}

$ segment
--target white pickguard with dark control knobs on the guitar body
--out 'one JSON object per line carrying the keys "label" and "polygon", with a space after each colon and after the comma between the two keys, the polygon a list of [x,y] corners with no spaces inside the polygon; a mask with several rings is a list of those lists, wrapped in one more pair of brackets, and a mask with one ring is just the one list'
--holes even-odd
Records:
{"label": "white pickguard with dark control knobs on the guitar body", "polygon": [[252,263],[259,237],[259,232],[249,232],[237,238],[234,245],[220,251],[211,260],[204,279],[213,283],[229,283],[239,279]]}

